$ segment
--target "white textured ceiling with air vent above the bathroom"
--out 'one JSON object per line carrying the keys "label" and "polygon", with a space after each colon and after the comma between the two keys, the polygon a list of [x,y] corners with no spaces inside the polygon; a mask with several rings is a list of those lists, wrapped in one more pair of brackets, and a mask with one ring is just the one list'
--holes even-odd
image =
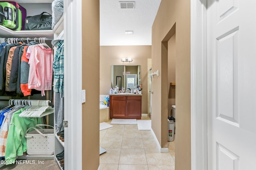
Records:
{"label": "white textured ceiling with air vent above the bathroom", "polygon": [[135,0],[134,9],[121,9],[119,1],[126,0],[100,0],[100,45],[151,45],[152,24],[161,0]]}

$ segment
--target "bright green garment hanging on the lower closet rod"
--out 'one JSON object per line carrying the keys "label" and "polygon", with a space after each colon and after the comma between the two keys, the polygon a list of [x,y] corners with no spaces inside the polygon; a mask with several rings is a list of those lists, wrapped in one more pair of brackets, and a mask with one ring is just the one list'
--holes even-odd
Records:
{"label": "bright green garment hanging on the lower closet rod", "polygon": [[[27,143],[25,138],[26,130],[42,124],[42,118],[38,117],[19,117],[28,106],[21,108],[13,113],[5,149],[6,164],[15,163],[16,156],[23,155],[27,151]],[[31,129],[32,131],[33,129]]]}

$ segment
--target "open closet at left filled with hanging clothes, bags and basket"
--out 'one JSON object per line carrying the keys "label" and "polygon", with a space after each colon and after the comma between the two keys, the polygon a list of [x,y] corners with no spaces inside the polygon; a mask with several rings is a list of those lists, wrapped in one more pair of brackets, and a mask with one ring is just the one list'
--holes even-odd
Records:
{"label": "open closet at left filled with hanging clothes, bags and basket", "polygon": [[[49,15],[53,15],[53,11],[52,11],[53,0],[46,0],[43,3],[41,0],[33,0],[33,1],[32,0],[16,0],[16,2],[20,6],[22,6],[22,8],[26,9],[26,16],[36,16],[43,12],[46,12]],[[63,4],[63,1],[62,1],[62,4]],[[5,4],[2,4],[2,5],[4,6]],[[4,151],[1,150],[1,152],[3,152],[1,153],[1,156],[3,157],[2,157],[2,162],[0,166],[4,166],[4,164],[14,163],[13,160],[15,160],[15,163],[17,164],[16,160],[19,161],[20,159],[26,159],[27,161],[23,162],[23,164],[28,164],[28,166],[29,164],[33,163],[35,160],[46,160],[46,159],[56,160],[60,169],[62,169],[62,167],[64,166],[64,162],[60,163],[60,159],[59,159],[61,157],[64,158],[64,136],[63,136],[64,133],[62,133],[63,139],[57,135],[57,130],[58,132],[63,131],[64,127],[58,126],[62,129],[56,129],[56,120],[54,120],[54,119],[59,119],[58,115],[56,115],[55,113],[56,111],[54,110],[54,104],[58,104],[60,100],[62,100],[61,101],[62,109],[60,108],[60,106],[57,106],[57,109],[58,109],[57,111],[63,112],[62,113],[63,115],[61,116],[62,118],[61,124],[63,125],[62,122],[64,120],[64,101],[63,101],[63,98],[60,98],[60,95],[54,94],[54,85],[53,85],[54,84],[53,61],[58,48],[58,42],[55,42],[56,45],[52,45],[52,41],[53,40],[56,41],[60,33],[64,30],[64,15],[63,15],[64,8],[62,9],[62,14],[60,11],[58,11],[59,12],[58,14],[60,14],[61,17],[58,18],[58,21],[56,21],[56,23],[54,23],[52,29],[48,29],[48,30],[43,30],[43,29],[42,30],[40,29],[24,30],[24,28],[22,28],[22,30],[14,31],[8,27],[0,25],[0,38],[1,38],[0,41],[1,41],[1,47],[3,48],[1,50],[5,49],[6,53],[8,52],[9,54],[21,53],[20,55],[17,55],[17,56],[20,56],[20,58],[13,57],[12,59],[10,59],[8,57],[7,63],[4,61],[6,59],[1,59],[1,65],[4,68],[6,67],[6,71],[7,71],[5,72],[4,70],[0,69],[1,79],[4,79],[4,82],[2,83],[4,87],[1,88],[1,95],[0,95],[0,106],[2,107],[2,110],[3,110],[3,112],[1,112],[2,114],[1,117],[6,115],[6,119],[15,118],[13,121],[9,120],[9,124],[7,123],[5,125],[4,123],[2,123],[1,125],[4,125],[5,127],[7,126],[7,129],[9,129],[9,131],[7,131],[8,133],[6,134],[10,133],[11,135],[11,131],[16,131],[17,133],[18,131],[17,128],[19,126],[19,123],[23,123],[22,118],[24,118],[25,123],[28,120],[32,122],[32,123],[30,122],[30,124],[26,126],[26,132],[25,132],[26,134],[22,134],[22,132],[20,132],[21,133],[20,135],[22,136],[21,141],[18,141],[17,139],[18,137],[15,134],[13,135],[13,138],[14,138],[13,141],[10,141],[9,139],[10,137],[7,137],[7,144],[5,142],[6,152],[4,153],[5,150]],[[64,39],[63,33],[61,36],[63,40]],[[4,47],[5,45],[7,45],[6,48],[10,48],[13,51],[6,49]],[[30,51],[29,49],[26,49],[26,48],[29,48],[30,45],[31,46],[35,45],[36,47],[33,47],[33,50]],[[14,47],[17,50],[15,51],[15,49],[12,47]],[[40,49],[36,49],[37,47]],[[26,51],[25,54],[24,54],[24,51]],[[30,58],[26,57],[28,56],[28,53],[30,54]],[[62,51],[62,53],[64,55],[64,51]],[[34,57],[36,56],[36,54],[40,54],[40,57],[42,58]],[[3,55],[1,55],[1,57],[2,56]],[[24,59],[22,57],[24,57]],[[17,64],[14,61],[16,61]],[[33,64],[33,61],[35,64]],[[24,63],[26,63],[27,65],[25,66]],[[62,61],[62,64],[63,64],[63,61]],[[33,65],[37,67],[37,69],[34,69],[35,70],[34,73],[33,73]],[[11,66],[10,69],[7,69],[8,66]],[[10,75],[8,74],[8,72],[10,72]],[[14,72],[16,72],[16,74],[14,74]],[[29,76],[25,74],[29,74]],[[36,79],[40,79],[40,83],[38,84],[41,84],[41,85],[39,87],[36,86],[37,84],[36,82],[33,82]],[[43,87],[43,88],[40,88],[40,87]],[[58,96],[59,98],[56,98],[56,96]],[[21,113],[17,117],[15,111],[19,109]],[[13,110],[13,111],[10,111],[10,110]],[[6,113],[8,114],[6,114],[4,111],[6,111]],[[10,116],[12,113],[15,116]],[[19,117],[22,117],[22,118],[19,118]],[[4,119],[4,121],[8,122],[8,119],[7,120],[6,119]],[[54,128],[54,130],[51,130],[51,127],[48,127],[48,126],[39,126],[39,124],[50,125],[51,127]],[[32,128],[32,129],[29,129],[29,128]],[[31,131],[31,130],[40,129],[40,128],[43,128],[44,131],[39,131],[38,134],[29,133],[29,130]],[[1,129],[1,132],[2,132],[2,129]],[[41,132],[41,135],[40,135],[40,132]],[[46,133],[45,136],[44,136],[44,133]],[[25,139],[23,139],[24,138],[23,136],[25,136]],[[3,140],[6,140],[6,139],[3,139]],[[25,143],[24,143],[24,140],[26,140]],[[12,144],[17,142],[22,143],[22,145],[16,147],[15,145],[18,145],[18,144]],[[12,150],[10,150],[11,145],[14,146],[14,149]],[[26,150],[24,149],[23,145],[26,145],[27,147],[26,152],[23,152],[24,150]],[[23,147],[23,150],[22,150],[22,147]],[[60,154],[62,154],[62,156],[60,156]],[[58,158],[58,156],[60,157]],[[22,162],[19,162],[19,163],[22,163]]]}

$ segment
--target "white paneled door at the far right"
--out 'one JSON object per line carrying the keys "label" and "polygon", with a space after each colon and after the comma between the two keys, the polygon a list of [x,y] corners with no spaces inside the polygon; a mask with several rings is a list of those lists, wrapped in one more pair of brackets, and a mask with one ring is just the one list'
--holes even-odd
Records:
{"label": "white paneled door at the far right", "polygon": [[256,170],[256,0],[207,1],[208,170]]}

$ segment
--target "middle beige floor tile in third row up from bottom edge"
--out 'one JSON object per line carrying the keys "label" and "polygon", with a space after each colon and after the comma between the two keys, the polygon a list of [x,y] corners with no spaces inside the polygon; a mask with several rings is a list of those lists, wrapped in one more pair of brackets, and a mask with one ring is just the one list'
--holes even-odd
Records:
{"label": "middle beige floor tile in third row up from bottom edge", "polygon": [[122,148],[144,149],[144,145],[141,138],[123,138]]}

